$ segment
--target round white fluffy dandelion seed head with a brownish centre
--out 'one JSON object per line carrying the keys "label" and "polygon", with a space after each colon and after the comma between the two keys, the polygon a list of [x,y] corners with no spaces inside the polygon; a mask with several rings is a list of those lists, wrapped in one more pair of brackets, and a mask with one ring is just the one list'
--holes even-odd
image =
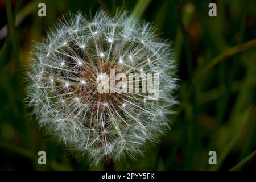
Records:
{"label": "round white fluffy dandelion seed head with a brownish centre", "polygon": [[[93,163],[133,156],[168,128],[176,104],[174,59],[170,43],[149,24],[123,12],[114,18],[104,11],[93,18],[77,13],[60,20],[32,54],[28,104],[39,126],[80,156],[87,154]],[[98,76],[110,69],[115,75],[158,74],[158,97],[143,93],[142,86],[133,93],[98,93]]]}

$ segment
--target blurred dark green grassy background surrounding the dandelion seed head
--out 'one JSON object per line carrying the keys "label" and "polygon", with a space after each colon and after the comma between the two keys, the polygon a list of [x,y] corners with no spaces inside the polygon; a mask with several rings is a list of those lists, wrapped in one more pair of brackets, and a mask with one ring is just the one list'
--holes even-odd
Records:
{"label": "blurred dark green grassy background surrounding the dandelion seed head", "polygon": [[[38,16],[40,2],[46,3],[46,17]],[[210,2],[217,4],[217,17],[208,16]],[[226,170],[236,164],[233,169],[255,169],[254,0],[0,0],[0,169],[104,169],[86,158],[76,161],[44,136],[23,102],[33,40],[42,40],[61,15],[77,10],[93,15],[100,8],[111,15],[127,10],[153,23],[160,36],[173,41],[180,78],[179,114],[170,117],[171,131],[159,143],[148,143],[137,161],[122,159],[115,169]],[[46,151],[47,165],[38,164],[40,150]],[[211,166],[212,150],[217,165]]]}

